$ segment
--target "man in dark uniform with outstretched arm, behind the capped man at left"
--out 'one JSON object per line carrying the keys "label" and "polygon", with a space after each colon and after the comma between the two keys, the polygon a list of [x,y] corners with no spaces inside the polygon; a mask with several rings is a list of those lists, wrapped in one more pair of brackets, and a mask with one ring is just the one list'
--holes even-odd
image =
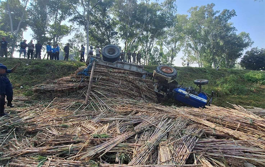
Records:
{"label": "man in dark uniform with outstretched arm, behind the capped man at left", "polygon": [[[0,65],[3,65],[2,63],[0,63]],[[6,90],[5,90],[5,95],[7,96],[7,106],[8,107],[14,107],[12,104],[12,100],[13,100],[13,87],[12,84],[10,82],[10,80],[7,77],[8,73],[13,73],[15,71],[15,69],[18,67],[18,65],[20,65],[19,63],[17,63],[12,69],[8,70],[6,69],[6,72],[4,74],[2,74],[2,77],[4,77],[4,82],[6,85]]]}

